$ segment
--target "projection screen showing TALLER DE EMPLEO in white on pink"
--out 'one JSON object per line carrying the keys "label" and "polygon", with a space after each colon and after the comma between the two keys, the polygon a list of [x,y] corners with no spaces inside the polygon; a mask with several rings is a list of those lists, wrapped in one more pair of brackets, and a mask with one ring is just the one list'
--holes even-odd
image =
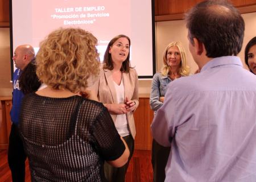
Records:
{"label": "projection screen showing TALLER DE EMPLEO in white on pink", "polygon": [[80,27],[98,39],[101,61],[109,41],[125,34],[131,39],[131,67],[139,78],[155,73],[154,0],[13,0],[10,9],[11,57],[21,44],[31,44],[37,52],[56,28]]}

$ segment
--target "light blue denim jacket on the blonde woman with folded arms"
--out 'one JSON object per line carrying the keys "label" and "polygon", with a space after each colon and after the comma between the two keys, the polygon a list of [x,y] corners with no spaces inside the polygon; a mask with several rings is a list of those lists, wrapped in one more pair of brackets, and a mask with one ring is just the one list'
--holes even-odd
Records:
{"label": "light blue denim jacket on the blonde woman with folded arms", "polygon": [[159,98],[166,95],[167,85],[171,81],[168,76],[163,76],[162,73],[155,73],[150,92],[150,107],[152,110],[156,111],[163,105]]}

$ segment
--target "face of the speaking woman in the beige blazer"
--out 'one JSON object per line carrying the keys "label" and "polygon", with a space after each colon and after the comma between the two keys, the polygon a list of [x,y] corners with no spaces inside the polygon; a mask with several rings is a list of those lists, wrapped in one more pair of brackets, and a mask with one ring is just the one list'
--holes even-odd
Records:
{"label": "face of the speaking woman in the beige blazer", "polygon": [[113,63],[122,64],[127,59],[130,51],[130,44],[127,38],[117,39],[109,48]]}

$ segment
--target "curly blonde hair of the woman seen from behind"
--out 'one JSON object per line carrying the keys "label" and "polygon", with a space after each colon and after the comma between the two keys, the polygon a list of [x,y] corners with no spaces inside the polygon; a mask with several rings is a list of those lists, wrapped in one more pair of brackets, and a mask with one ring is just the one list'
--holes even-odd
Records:
{"label": "curly blonde hair of the woman seen from behind", "polygon": [[88,78],[97,77],[100,59],[97,39],[81,28],[59,28],[40,43],[36,75],[53,89],[73,93],[87,88]]}

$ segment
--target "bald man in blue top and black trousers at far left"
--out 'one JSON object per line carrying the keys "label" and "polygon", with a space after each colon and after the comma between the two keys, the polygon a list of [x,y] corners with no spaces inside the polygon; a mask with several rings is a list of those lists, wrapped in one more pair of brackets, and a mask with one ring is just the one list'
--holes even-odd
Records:
{"label": "bald man in blue top and black trousers at far left", "polygon": [[8,163],[11,169],[13,182],[24,181],[25,161],[22,140],[18,133],[19,110],[22,102],[23,93],[19,86],[19,77],[30,61],[35,57],[34,48],[30,45],[21,45],[15,49],[13,60],[17,68],[13,75],[13,107],[11,108],[11,132],[9,137]]}

